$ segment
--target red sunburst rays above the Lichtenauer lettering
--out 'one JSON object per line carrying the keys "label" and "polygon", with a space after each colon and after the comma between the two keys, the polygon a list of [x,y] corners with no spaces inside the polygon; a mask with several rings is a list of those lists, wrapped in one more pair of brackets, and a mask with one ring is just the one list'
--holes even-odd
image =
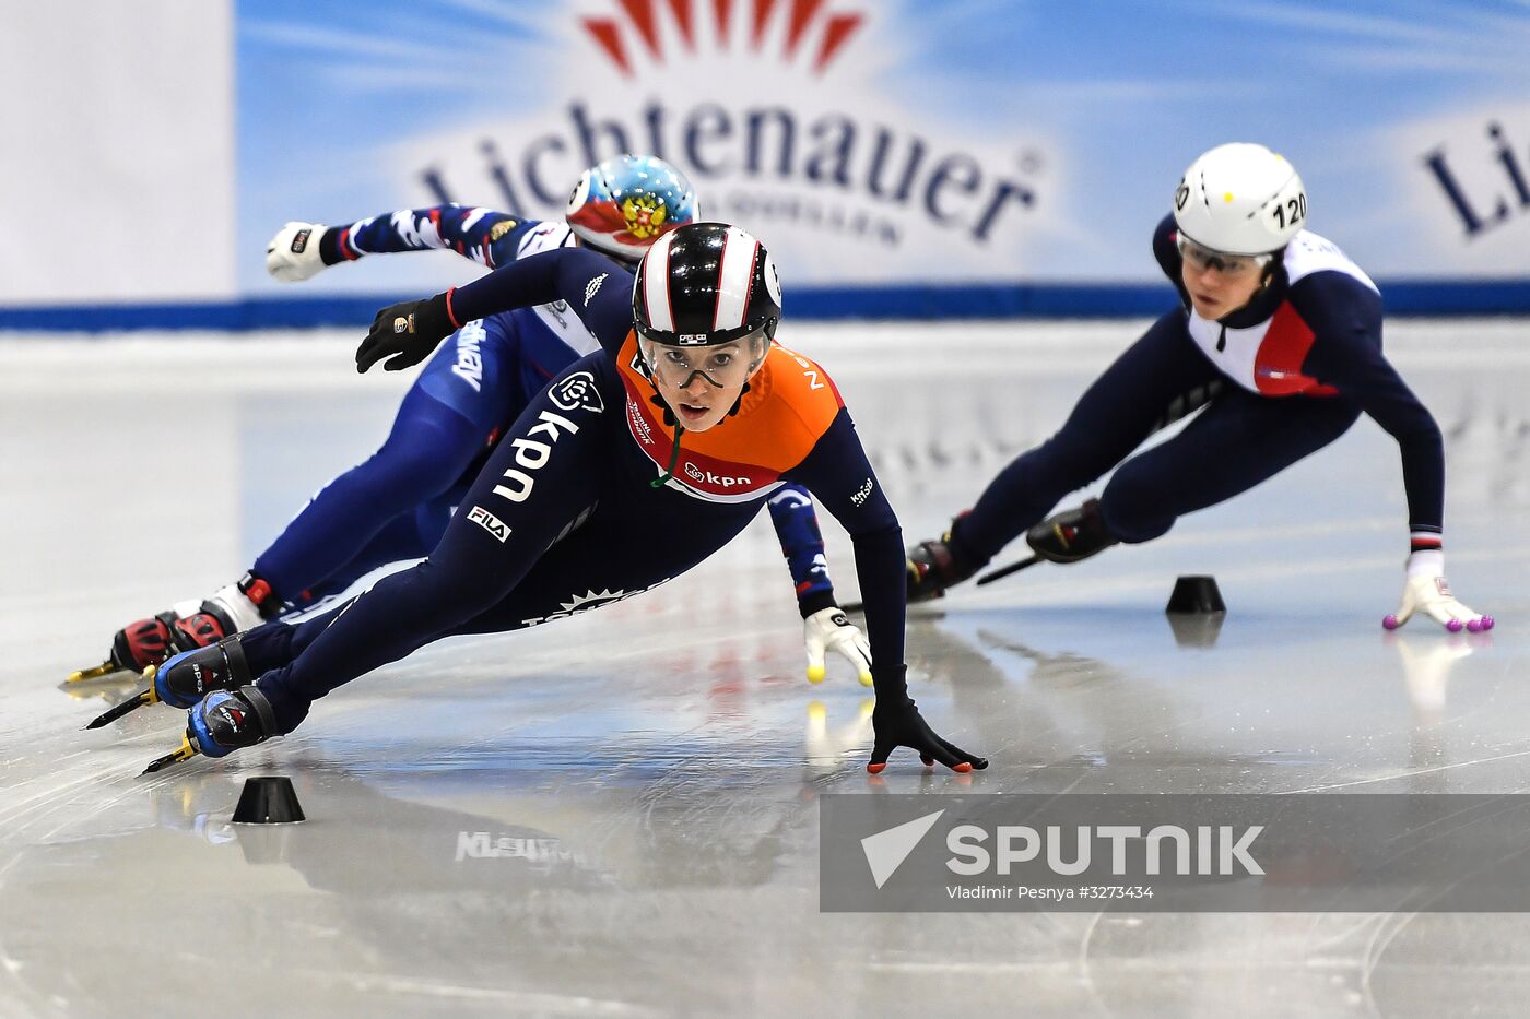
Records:
{"label": "red sunburst rays above the Lichtenauer lettering", "polygon": [[[860,12],[838,14],[829,11],[826,0],[741,0],[739,3],[736,0],[617,0],[617,6],[626,15],[626,24],[617,17],[581,18],[581,24],[591,38],[595,40],[597,46],[600,46],[601,52],[610,57],[612,63],[621,69],[621,73],[630,78],[635,54],[629,49],[627,40],[632,34],[636,34],[643,40],[655,63],[662,64],[666,60],[658,31],[659,5],[669,8],[679,29],[679,37],[692,52],[696,49],[696,14],[702,5],[711,8],[718,24],[718,37],[724,47],[733,41],[730,34],[734,21],[733,14],[737,9],[744,21],[742,28],[748,32],[750,47],[754,50],[759,50],[760,41],[765,38],[765,29],[770,24],[771,15],[777,9],[785,9],[785,57],[788,60],[797,54],[803,40],[814,34],[809,29],[822,26],[822,32],[815,34],[817,54],[812,58],[814,73],[823,73],[825,67],[840,55],[845,44],[864,20],[864,15]],[[627,31],[623,32],[623,28]]]}

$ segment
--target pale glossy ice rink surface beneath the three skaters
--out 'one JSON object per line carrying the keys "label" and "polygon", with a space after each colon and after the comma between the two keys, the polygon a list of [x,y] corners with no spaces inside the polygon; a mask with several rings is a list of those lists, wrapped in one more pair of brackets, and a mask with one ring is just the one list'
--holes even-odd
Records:
{"label": "pale glossy ice rink surface beneath the three skaters", "polygon": [[[782,338],[840,384],[912,540],[1138,327]],[[1525,791],[1530,324],[1388,332],[1446,435],[1449,575],[1487,635],[1379,626],[1408,529],[1395,445],[1362,419],[1161,542],[916,610],[912,692],[981,774],[909,751],[864,773],[866,690],[803,679],[762,517],[652,594],[436,644],[283,741],[138,777],[185,715],[84,733],[136,687],[61,681],[239,575],[381,441],[409,379],[358,378],[356,340],[0,341],[0,1016],[1525,1013],[1515,913],[820,913],[817,797]],[[1204,572],[1226,621],[1177,635],[1174,578]],[[231,825],[259,774],[309,820]]]}

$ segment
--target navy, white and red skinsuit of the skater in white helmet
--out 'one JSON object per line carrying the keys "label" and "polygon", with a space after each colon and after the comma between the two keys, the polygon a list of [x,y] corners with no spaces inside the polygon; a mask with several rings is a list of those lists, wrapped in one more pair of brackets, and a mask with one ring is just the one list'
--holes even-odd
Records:
{"label": "navy, white and red skinsuit of the skater in white helmet", "polygon": [[[1121,542],[1149,542],[1181,514],[1247,491],[1328,445],[1362,413],[1401,450],[1414,546],[1440,548],[1440,428],[1382,355],[1375,285],[1334,245],[1304,231],[1268,288],[1212,323],[1190,309],[1174,217],[1154,234],[1154,254],[1184,306],[1121,353],[1053,438],[993,479],[955,523],[958,551],[981,566],[1121,461],[1100,496],[1105,525]],[[1126,459],[1201,407],[1180,435]]]}

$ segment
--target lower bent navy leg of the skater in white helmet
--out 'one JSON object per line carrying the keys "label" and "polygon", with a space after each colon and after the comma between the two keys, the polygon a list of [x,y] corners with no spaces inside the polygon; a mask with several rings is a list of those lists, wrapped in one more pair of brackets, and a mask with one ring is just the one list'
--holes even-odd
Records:
{"label": "lower bent navy leg of the skater in white helmet", "polygon": [[1184,431],[1115,471],[1100,496],[1105,525],[1121,542],[1149,542],[1181,514],[1226,502],[1320,450],[1359,416],[1343,398],[1226,392]]}

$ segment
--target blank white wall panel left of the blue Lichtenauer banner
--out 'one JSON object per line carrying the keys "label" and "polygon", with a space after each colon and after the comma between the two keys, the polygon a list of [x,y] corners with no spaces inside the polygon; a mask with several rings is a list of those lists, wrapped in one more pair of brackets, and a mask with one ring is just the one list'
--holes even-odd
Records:
{"label": "blank white wall panel left of the blue Lichtenauer banner", "polygon": [[230,0],[0,5],[0,304],[230,300]]}

